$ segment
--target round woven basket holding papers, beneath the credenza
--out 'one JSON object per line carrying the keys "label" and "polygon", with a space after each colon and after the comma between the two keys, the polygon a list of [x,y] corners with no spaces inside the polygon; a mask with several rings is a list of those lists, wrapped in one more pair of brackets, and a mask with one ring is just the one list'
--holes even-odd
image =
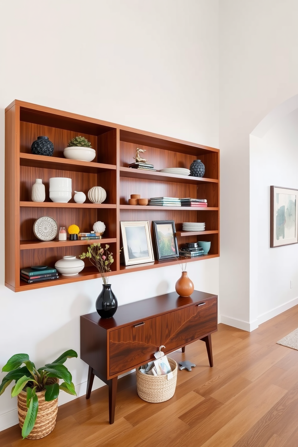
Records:
{"label": "round woven basket holding papers, beneath the credenza", "polygon": [[168,380],[168,375],[148,375],[136,369],[137,391],[141,399],[147,402],[164,402],[174,396],[177,382],[177,363],[168,358],[173,378]]}

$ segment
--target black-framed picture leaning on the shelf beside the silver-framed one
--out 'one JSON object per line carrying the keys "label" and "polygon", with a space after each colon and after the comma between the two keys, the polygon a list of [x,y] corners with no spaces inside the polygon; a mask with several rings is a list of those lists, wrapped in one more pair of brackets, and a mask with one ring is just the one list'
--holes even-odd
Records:
{"label": "black-framed picture leaning on the shelf beside the silver-framed one", "polygon": [[172,259],[179,257],[174,220],[152,220],[157,258]]}

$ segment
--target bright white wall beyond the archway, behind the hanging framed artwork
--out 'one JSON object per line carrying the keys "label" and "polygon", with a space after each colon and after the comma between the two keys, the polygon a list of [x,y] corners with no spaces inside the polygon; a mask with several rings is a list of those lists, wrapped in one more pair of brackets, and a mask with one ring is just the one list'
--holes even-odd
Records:
{"label": "bright white wall beyond the archway, behind the hanging framed artwork", "polygon": [[[251,306],[258,324],[298,304],[298,248],[270,248],[270,185],[298,189],[298,109],[251,136]],[[256,268],[257,266],[257,268]],[[292,288],[290,288],[292,281]]]}

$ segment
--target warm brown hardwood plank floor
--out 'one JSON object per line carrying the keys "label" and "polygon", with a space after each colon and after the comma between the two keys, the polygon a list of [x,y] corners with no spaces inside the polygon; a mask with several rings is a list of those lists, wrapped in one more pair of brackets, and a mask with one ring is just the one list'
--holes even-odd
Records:
{"label": "warm brown hardwood plank floor", "polygon": [[108,388],[62,405],[54,431],[21,440],[18,426],[0,432],[1,447],[297,447],[298,351],[276,342],[298,327],[298,306],[248,333],[218,325],[214,367],[204,342],[171,357],[191,360],[179,371],[172,399],[142,401],[135,375],[118,380],[115,422],[109,425]]}

